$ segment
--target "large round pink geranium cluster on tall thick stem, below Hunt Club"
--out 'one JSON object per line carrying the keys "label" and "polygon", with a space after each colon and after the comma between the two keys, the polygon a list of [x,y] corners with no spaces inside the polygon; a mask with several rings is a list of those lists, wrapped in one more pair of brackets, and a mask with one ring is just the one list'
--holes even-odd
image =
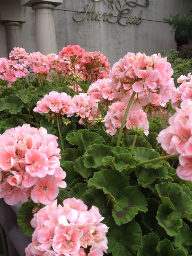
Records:
{"label": "large round pink geranium cluster on tall thick stem, below Hunt Club", "polygon": [[154,100],[158,94],[161,104],[165,104],[173,95],[173,69],[166,58],[154,54],[127,53],[113,65],[110,71],[111,88],[121,92],[128,99],[136,93],[132,109],[139,109]]}

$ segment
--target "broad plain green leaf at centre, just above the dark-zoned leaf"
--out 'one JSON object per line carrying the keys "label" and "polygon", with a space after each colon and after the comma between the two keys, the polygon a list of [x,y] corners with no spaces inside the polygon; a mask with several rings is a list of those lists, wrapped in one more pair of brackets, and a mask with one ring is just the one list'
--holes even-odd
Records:
{"label": "broad plain green leaf at centre, just above the dark-zoned leaf", "polygon": [[101,189],[112,201],[115,201],[115,198],[120,196],[126,183],[126,178],[123,178],[121,173],[113,169],[103,169],[95,173],[93,177],[88,180],[89,187]]}

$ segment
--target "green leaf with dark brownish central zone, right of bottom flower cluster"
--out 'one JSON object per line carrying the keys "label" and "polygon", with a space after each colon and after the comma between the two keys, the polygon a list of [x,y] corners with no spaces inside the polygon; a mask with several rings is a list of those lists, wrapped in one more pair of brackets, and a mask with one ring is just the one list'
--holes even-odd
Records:
{"label": "green leaf with dark brownish central zone, right of bottom flower cluster", "polygon": [[134,186],[124,188],[116,202],[112,215],[119,226],[130,222],[139,211],[148,210],[145,196]]}

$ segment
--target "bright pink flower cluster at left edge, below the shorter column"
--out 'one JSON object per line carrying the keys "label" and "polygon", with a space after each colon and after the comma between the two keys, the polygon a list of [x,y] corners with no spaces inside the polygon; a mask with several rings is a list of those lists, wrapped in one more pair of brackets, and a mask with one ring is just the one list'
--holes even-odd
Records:
{"label": "bright pink flower cluster at left edge, below the shorter column", "polygon": [[0,58],[0,79],[13,83],[18,78],[26,77],[29,74],[25,64],[18,64],[16,60]]}

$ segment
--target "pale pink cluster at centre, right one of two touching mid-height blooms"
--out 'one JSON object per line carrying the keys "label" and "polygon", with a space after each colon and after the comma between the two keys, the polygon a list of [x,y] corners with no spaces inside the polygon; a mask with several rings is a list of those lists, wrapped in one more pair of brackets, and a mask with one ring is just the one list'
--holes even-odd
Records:
{"label": "pale pink cluster at centre, right one of two touching mid-height blooms", "polygon": [[98,109],[98,103],[90,99],[90,96],[86,93],[80,93],[73,97],[73,103],[75,103],[76,117],[81,117],[79,124],[94,125],[94,119],[101,115]]}

